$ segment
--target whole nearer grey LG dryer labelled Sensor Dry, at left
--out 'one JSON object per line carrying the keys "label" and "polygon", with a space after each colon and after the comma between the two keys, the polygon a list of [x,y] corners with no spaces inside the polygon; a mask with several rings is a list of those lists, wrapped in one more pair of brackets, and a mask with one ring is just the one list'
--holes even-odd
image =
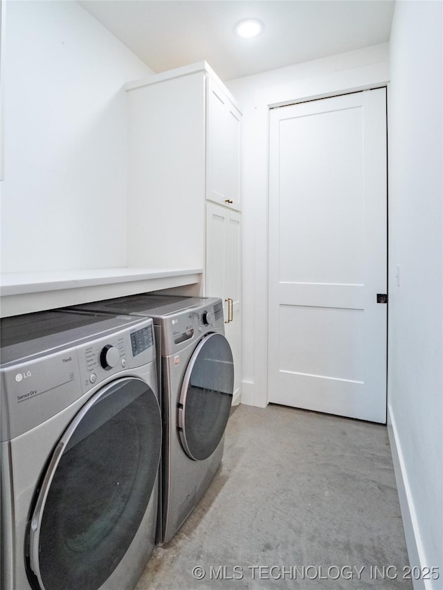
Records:
{"label": "whole nearer grey LG dryer labelled Sensor Dry, at left", "polygon": [[152,320],[1,320],[1,589],[132,589],[155,541]]}

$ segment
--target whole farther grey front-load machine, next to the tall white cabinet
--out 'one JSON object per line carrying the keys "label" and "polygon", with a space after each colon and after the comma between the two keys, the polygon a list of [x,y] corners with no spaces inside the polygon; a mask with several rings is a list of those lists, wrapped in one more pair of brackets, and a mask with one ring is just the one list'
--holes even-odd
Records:
{"label": "whole farther grey front-load machine, next to the tall white cabinet", "polygon": [[157,543],[172,539],[221,463],[234,365],[223,304],[211,297],[132,295],[81,309],[152,317],[163,415]]}

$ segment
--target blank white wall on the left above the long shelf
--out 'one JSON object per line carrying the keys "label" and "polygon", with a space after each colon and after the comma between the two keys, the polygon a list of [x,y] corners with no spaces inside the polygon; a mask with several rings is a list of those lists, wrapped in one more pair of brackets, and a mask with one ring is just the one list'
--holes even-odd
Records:
{"label": "blank white wall on the left above the long shelf", "polygon": [[1,270],[126,264],[125,82],[152,74],[74,1],[8,1]]}

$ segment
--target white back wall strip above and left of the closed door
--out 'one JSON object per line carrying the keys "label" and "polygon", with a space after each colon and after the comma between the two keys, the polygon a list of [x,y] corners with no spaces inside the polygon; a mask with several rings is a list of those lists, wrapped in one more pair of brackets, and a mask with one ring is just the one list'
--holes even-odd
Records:
{"label": "white back wall strip above and left of the closed door", "polygon": [[267,404],[269,105],[382,86],[388,80],[388,44],[381,44],[226,82],[244,113],[242,403]]}

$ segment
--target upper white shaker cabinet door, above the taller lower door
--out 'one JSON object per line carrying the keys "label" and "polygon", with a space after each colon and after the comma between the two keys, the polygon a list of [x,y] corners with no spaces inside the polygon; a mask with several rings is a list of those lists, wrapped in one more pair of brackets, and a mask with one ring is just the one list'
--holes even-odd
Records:
{"label": "upper white shaker cabinet door, above the taller lower door", "polygon": [[240,209],[241,113],[208,78],[206,113],[206,199]]}

